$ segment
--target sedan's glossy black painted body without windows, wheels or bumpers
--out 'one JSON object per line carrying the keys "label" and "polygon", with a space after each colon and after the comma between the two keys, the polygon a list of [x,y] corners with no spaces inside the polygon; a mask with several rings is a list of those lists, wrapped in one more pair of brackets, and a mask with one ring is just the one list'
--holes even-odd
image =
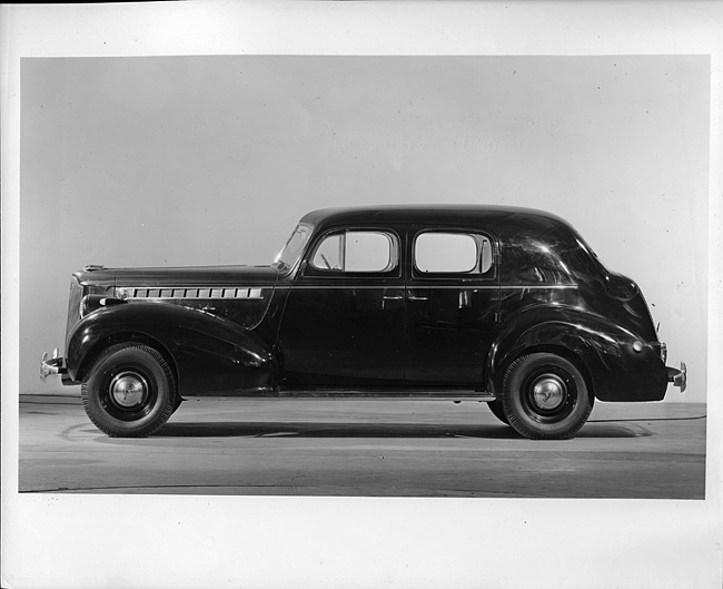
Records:
{"label": "sedan's glossy black painted body without windows, wheels or bumpers", "polygon": [[[128,338],[157,345],[189,396],[281,394],[300,386],[499,394],[515,359],[546,351],[575,363],[600,400],[665,395],[667,371],[640,289],[606,271],[554,215],[513,207],[364,207],[317,210],[301,223],[314,227],[313,236],[285,267],[76,273],[83,294],[158,288],[159,296],[131,295],[115,306],[96,302],[75,324],[79,296],[71,291],[69,375],[82,379],[105,346]],[[347,228],[394,232],[398,265],[368,275],[313,268],[309,256],[321,237]],[[492,271],[415,273],[414,237],[430,228],[489,236]],[[232,295],[224,291],[234,288]],[[170,296],[160,296],[164,289]]]}

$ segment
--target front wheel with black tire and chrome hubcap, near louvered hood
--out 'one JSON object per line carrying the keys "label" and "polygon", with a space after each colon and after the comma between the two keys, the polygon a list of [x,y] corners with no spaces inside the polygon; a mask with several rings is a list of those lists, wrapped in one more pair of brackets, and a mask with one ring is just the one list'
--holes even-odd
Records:
{"label": "front wheel with black tire and chrome hubcap, near louvered hood", "polygon": [[145,438],[180,404],[170,366],[140,344],[110,346],[83,379],[81,399],[90,421],[112,438]]}

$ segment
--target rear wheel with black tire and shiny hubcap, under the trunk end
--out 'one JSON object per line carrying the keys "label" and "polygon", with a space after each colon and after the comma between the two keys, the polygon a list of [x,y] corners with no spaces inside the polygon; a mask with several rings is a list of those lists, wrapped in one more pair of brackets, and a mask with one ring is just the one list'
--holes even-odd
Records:
{"label": "rear wheel with black tire and shiny hubcap, under the trunk end", "polygon": [[517,433],[531,440],[567,440],[585,424],[594,396],[568,360],[534,353],[515,360],[505,373],[503,413]]}

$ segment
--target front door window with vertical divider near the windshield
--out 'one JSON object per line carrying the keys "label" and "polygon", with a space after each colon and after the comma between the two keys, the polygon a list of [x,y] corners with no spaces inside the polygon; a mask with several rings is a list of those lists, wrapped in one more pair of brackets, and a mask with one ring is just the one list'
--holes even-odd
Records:
{"label": "front door window with vertical divider near the windshield", "polygon": [[327,235],[311,266],[331,272],[389,272],[397,266],[397,239],[385,232],[349,230]]}

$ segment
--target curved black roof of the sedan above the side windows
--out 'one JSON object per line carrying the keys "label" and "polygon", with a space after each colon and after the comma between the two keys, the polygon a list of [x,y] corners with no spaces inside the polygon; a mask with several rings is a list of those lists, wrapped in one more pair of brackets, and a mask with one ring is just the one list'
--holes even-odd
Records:
{"label": "curved black roof of the sedan above the side windows", "polygon": [[380,205],[321,208],[306,214],[301,223],[314,225],[317,229],[345,225],[412,223],[482,226],[499,233],[524,230],[527,234],[541,234],[563,227],[573,230],[566,220],[552,213],[492,205]]}

